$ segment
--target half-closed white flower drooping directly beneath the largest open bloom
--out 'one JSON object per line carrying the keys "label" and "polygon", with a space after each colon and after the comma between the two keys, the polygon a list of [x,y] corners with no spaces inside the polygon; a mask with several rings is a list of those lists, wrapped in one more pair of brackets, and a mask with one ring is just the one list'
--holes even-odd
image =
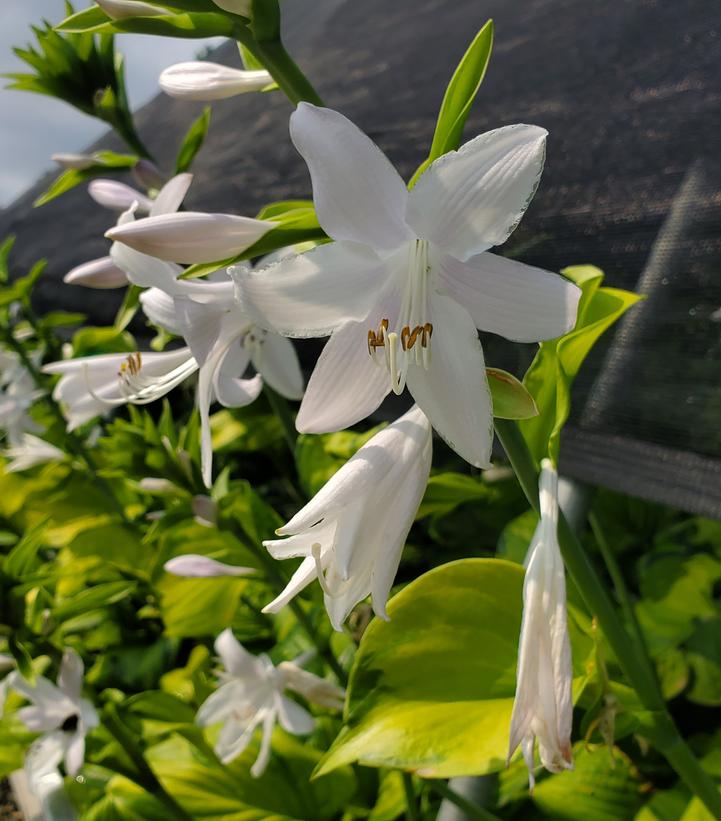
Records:
{"label": "half-closed white flower drooping directly beneath the largest open bloom", "polygon": [[413,407],[370,439],[263,544],[275,559],[303,556],[288,586],[264,613],[277,613],[318,579],[331,624],[342,630],[370,594],[377,616],[386,602],[431,468],[431,426]]}

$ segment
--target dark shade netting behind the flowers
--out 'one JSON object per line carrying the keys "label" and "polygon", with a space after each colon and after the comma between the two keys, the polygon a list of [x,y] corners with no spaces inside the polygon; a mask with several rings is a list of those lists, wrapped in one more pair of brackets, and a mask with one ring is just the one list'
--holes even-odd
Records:
{"label": "dark shade netting behind the flowers", "polygon": [[[593,263],[648,298],[576,383],[562,469],[721,516],[721,11],[713,0],[287,0],[289,45],[328,105],[408,178],[445,84],[488,17],[496,47],[466,136],[512,122],[550,132],[538,194],[504,252],[558,270]],[[152,40],[148,40],[152,48]],[[237,64],[234,46],[214,59]],[[162,97],[140,118],[160,156],[199,106]],[[214,106],[193,208],[253,213],[306,196],[280,94]],[[113,140],[103,141],[113,145]],[[43,182],[47,185],[48,180]],[[83,191],[33,211],[36,187],[0,215],[17,260],[50,257],[40,307],[110,322],[115,295],[60,286],[106,253],[111,217]],[[488,339],[519,372],[532,350]]]}

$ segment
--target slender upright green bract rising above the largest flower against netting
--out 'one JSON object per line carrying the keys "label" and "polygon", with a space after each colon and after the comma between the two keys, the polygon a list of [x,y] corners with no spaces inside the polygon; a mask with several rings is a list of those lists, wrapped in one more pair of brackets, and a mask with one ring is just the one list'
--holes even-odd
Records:
{"label": "slender upright green bract rising above the largest flower against netting", "polygon": [[492,49],[493,21],[489,20],[473,39],[448,83],[438,113],[436,131],[428,159],[413,175],[408,185],[409,188],[413,187],[433,160],[449,151],[454,151],[460,145],[463,127],[485,77]]}

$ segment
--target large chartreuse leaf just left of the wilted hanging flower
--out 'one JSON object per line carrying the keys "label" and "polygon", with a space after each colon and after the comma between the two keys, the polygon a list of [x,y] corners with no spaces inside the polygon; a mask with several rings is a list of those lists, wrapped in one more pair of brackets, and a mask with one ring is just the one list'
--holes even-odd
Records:
{"label": "large chartreuse leaf just left of the wilted hanging flower", "polygon": [[[318,767],[413,770],[429,778],[505,766],[523,569],[462,559],[409,584],[374,619],[351,670],[345,726]],[[582,670],[584,651],[574,663]]]}

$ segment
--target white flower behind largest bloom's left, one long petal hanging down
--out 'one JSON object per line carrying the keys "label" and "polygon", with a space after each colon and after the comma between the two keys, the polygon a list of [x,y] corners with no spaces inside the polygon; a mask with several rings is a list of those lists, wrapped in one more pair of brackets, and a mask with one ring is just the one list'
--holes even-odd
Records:
{"label": "white flower behind largest bloom's left, one long petal hanging down", "polygon": [[[132,225],[132,214],[121,220]],[[142,221],[142,220],[141,220]],[[210,406],[240,408],[257,399],[267,382],[286,399],[303,396],[303,376],[292,343],[256,327],[233,298],[233,283],[178,279],[182,269],[142,254],[121,243],[111,250],[113,260],[135,285],[148,288],[140,301],[146,316],[162,328],[185,338],[200,367],[197,404],[201,422],[203,481],[212,478]],[[221,274],[224,276],[224,274]],[[256,375],[243,379],[251,365]]]}

